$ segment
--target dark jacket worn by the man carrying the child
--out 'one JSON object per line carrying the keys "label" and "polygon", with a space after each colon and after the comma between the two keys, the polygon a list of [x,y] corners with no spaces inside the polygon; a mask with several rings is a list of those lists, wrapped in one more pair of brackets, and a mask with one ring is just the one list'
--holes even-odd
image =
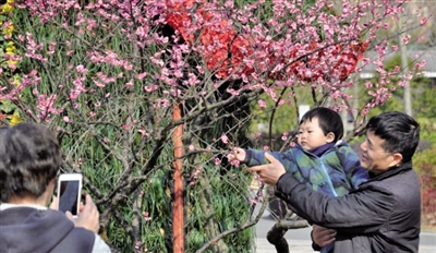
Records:
{"label": "dark jacket worn by the man carrying the child", "polygon": [[316,193],[284,173],[276,195],[308,222],[337,230],[335,252],[417,252],[421,192],[411,161],[372,174],[340,197]]}

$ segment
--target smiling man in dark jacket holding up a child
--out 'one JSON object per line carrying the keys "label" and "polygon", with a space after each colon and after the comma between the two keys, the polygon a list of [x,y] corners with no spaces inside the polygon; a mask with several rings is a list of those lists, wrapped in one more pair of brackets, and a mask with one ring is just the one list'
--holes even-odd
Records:
{"label": "smiling man in dark jacket holding up a child", "polygon": [[361,145],[361,166],[371,178],[339,197],[307,190],[268,154],[271,164],[250,170],[277,184],[276,195],[299,216],[336,230],[335,252],[417,252],[421,193],[411,159],[419,140],[420,125],[405,113],[372,118]]}

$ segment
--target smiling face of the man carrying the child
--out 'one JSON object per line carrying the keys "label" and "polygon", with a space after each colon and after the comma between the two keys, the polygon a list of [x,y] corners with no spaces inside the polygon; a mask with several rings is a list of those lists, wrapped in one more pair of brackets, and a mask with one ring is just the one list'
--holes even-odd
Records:
{"label": "smiling face of the man carrying the child", "polygon": [[382,173],[397,165],[393,155],[383,148],[385,140],[375,135],[373,131],[366,131],[366,138],[361,144],[361,166],[374,173]]}

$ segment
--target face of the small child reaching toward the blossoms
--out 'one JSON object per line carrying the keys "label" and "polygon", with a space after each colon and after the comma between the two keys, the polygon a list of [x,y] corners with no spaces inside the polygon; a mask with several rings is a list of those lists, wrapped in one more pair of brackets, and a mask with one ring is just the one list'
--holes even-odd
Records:
{"label": "face of the small child reaching toward the blossoms", "polygon": [[315,149],[324,144],[331,143],[335,140],[335,134],[324,134],[319,126],[318,118],[312,118],[300,124],[299,133],[296,135],[300,146],[306,150]]}

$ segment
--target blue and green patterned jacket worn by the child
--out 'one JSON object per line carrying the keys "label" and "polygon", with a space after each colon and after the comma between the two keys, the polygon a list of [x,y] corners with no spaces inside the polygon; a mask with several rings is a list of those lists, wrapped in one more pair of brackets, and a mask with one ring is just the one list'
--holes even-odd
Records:
{"label": "blue and green patterned jacket worn by the child", "polygon": [[[264,150],[246,149],[244,164],[249,167],[265,165]],[[284,153],[268,152],[292,176],[307,188],[329,196],[342,196],[368,180],[368,173],[360,166],[358,155],[346,143],[339,142],[319,157],[295,145]]]}

